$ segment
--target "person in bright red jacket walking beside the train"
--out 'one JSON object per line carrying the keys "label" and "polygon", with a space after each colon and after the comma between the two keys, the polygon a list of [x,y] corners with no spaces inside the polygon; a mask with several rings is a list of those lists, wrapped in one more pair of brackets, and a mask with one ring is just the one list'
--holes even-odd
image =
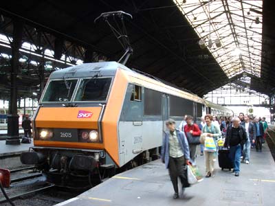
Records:
{"label": "person in bright red jacket walking beside the train", "polygon": [[[193,117],[190,115],[187,115],[186,117],[186,126],[184,126],[184,133],[187,135],[187,133],[190,133],[192,136],[200,136],[201,130],[199,130],[199,126],[195,123],[193,123]],[[192,159],[192,163],[195,163],[196,157],[197,157],[197,145],[196,144],[189,144],[189,150],[190,150],[190,159]]]}

